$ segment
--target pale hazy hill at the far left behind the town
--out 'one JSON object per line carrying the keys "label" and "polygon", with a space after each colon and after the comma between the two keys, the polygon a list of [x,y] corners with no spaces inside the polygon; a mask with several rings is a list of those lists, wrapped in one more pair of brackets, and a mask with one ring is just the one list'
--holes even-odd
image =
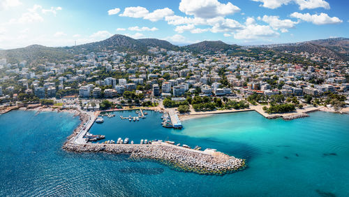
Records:
{"label": "pale hazy hill at the far left behind the town", "polygon": [[0,58],[1,57],[13,63],[19,63],[23,60],[30,63],[44,63],[46,61],[70,59],[73,57],[73,54],[69,53],[64,48],[47,48],[43,45],[30,45],[26,48],[0,50]]}

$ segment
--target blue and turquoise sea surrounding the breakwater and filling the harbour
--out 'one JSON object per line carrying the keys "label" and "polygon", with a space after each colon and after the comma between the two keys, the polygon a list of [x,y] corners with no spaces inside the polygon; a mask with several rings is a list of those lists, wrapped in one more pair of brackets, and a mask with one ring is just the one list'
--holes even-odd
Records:
{"label": "blue and turquoise sea surrounding the breakwater and filling the harbour", "polygon": [[349,115],[313,112],[286,122],[241,112],[173,130],[162,128],[155,112],[139,122],[116,114],[91,133],[216,148],[247,159],[248,168],[207,176],[127,156],[64,152],[77,117],[13,111],[0,115],[0,196],[349,196]]}

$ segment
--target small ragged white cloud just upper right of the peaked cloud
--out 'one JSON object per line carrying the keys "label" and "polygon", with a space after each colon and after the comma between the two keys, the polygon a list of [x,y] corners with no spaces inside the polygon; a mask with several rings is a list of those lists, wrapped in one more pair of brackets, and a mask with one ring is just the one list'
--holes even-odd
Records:
{"label": "small ragged white cloud just upper right of the peaked cloud", "polygon": [[292,21],[292,20],[280,20],[279,16],[267,16],[264,15],[263,17],[258,17],[258,20],[262,20],[264,22],[267,22],[270,27],[273,29],[281,29],[281,32],[285,33],[288,32],[288,29],[295,27],[296,24],[299,22]]}

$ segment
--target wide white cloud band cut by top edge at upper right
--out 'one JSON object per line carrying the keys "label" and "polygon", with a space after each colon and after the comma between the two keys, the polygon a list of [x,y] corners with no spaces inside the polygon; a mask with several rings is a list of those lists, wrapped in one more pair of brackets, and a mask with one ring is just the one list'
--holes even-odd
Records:
{"label": "wide white cloud band cut by top edge at upper right", "polygon": [[265,8],[279,8],[283,5],[288,5],[288,3],[296,3],[300,10],[304,9],[314,9],[314,8],[325,8],[329,9],[329,3],[325,0],[252,0],[257,2],[262,2],[260,6]]}

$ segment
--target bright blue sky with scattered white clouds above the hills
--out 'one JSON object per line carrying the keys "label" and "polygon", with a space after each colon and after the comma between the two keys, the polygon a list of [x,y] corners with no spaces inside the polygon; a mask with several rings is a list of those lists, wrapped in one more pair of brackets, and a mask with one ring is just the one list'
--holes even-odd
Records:
{"label": "bright blue sky with scattered white clouds above the hills", "polygon": [[348,0],[0,0],[0,49],[71,46],[114,34],[176,45],[349,38]]}

